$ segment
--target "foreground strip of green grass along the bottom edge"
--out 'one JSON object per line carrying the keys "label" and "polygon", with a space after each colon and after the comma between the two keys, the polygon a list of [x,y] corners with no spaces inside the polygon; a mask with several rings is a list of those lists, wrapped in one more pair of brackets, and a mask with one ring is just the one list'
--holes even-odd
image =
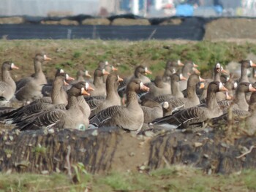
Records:
{"label": "foreground strip of green grass along the bottom edge", "polygon": [[1,173],[0,191],[255,191],[255,176],[255,170],[208,175],[192,166],[170,166],[147,173],[81,172],[78,183],[73,183],[67,174]]}

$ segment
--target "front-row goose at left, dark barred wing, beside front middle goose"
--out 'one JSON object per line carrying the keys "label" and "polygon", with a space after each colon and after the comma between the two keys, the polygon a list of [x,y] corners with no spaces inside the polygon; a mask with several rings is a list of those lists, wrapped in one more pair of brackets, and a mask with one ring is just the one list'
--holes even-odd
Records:
{"label": "front-row goose at left, dark barred wing, beside front middle goose", "polygon": [[18,128],[23,130],[40,129],[43,126],[48,128],[75,128],[85,130],[89,125],[89,120],[83,117],[78,105],[78,96],[89,94],[84,87],[85,82],[78,82],[72,85],[68,92],[67,110],[51,110],[38,115],[33,121]]}

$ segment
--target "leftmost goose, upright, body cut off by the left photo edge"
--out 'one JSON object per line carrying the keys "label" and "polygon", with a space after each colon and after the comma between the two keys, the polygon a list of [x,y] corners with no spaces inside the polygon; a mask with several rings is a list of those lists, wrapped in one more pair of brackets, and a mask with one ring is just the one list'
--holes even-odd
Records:
{"label": "leftmost goose, upright, body cut off by the left photo edge", "polygon": [[10,75],[10,70],[12,69],[18,69],[18,66],[15,66],[10,61],[5,61],[1,66],[0,96],[4,97],[7,101],[12,99],[16,90],[15,81],[12,80]]}

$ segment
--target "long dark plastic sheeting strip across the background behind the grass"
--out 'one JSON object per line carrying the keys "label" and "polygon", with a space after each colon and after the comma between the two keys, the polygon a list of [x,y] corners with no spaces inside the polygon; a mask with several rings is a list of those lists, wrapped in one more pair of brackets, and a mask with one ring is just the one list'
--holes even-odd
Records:
{"label": "long dark plastic sheeting strip across the background behind the grass", "polygon": [[0,37],[7,39],[189,39],[201,40],[203,26],[55,26],[37,24],[4,24]]}

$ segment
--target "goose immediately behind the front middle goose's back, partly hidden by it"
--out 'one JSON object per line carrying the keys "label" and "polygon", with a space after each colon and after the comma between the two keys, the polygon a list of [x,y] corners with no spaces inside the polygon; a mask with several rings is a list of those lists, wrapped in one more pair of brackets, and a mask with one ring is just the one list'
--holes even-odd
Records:
{"label": "goose immediately behind the front middle goose's back, partly hidden by it", "polygon": [[91,110],[91,116],[96,115],[98,112],[105,110],[106,108],[113,105],[121,105],[120,97],[117,93],[119,82],[123,81],[117,74],[109,74],[106,81],[107,97],[102,100],[96,108]]}

